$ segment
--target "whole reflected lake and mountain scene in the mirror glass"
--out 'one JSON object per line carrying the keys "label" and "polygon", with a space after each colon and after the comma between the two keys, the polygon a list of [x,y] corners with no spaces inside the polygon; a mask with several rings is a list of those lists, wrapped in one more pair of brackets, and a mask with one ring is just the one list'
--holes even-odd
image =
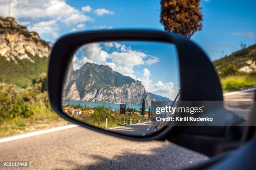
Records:
{"label": "whole reflected lake and mountain scene in the mirror glass", "polygon": [[[164,42],[98,42],[80,47],[67,68],[65,114],[117,133],[145,136],[164,126],[159,101],[179,100],[175,45]],[[166,117],[163,114],[160,117]]]}

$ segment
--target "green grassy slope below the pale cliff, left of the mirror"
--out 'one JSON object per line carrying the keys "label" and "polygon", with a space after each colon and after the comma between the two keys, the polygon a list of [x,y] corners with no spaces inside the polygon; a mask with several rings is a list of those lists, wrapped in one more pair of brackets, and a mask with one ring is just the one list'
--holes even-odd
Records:
{"label": "green grassy slope below the pale cliff, left of the mirror", "polygon": [[5,57],[0,56],[0,81],[8,84],[15,84],[20,87],[32,85],[32,80],[42,72],[47,71],[48,58],[33,56],[27,52],[35,63],[23,59],[17,59],[18,63],[9,62]]}

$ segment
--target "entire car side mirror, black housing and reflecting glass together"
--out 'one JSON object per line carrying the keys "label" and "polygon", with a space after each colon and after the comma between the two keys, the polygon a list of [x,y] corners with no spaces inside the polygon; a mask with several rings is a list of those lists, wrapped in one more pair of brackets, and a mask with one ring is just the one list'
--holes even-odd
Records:
{"label": "entire car side mirror, black housing and reflecting glass together", "polygon": [[[183,111],[159,113],[164,107],[215,101],[214,108],[224,109],[218,75],[205,52],[172,32],[101,30],[60,37],[50,55],[48,89],[53,109],[64,119],[129,140],[171,139],[170,134],[187,130],[202,135],[212,126],[214,135],[223,135],[233,123],[230,116],[203,127],[194,126],[200,121],[185,125],[159,119],[186,116]],[[208,103],[204,114],[214,117],[212,110]]]}

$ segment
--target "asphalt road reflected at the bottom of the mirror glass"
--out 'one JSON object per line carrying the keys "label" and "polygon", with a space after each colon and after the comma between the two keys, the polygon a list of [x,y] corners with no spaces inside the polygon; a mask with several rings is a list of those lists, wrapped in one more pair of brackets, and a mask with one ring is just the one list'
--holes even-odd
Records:
{"label": "asphalt road reflected at the bottom of the mirror glass", "polygon": [[118,128],[110,128],[108,130],[133,136],[145,136],[155,133],[153,122],[137,123]]}

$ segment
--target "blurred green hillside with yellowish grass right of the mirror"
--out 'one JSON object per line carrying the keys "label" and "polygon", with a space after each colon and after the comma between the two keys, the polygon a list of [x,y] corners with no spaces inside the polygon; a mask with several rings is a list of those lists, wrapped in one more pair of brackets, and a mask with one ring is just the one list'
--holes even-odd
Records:
{"label": "blurred green hillside with yellowish grass right of the mirror", "polygon": [[[216,67],[224,92],[256,87],[256,44],[231,55],[215,60]],[[251,71],[245,71],[250,68]],[[242,70],[243,71],[242,71]]]}

